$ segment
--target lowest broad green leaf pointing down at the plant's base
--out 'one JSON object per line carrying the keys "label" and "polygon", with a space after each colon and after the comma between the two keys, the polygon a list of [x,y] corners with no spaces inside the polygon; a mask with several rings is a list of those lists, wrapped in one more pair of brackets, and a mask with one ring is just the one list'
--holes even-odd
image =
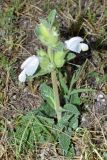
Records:
{"label": "lowest broad green leaf pointing down at the plant's base", "polygon": [[67,154],[70,147],[70,136],[65,133],[59,134],[59,145],[61,146],[65,154]]}

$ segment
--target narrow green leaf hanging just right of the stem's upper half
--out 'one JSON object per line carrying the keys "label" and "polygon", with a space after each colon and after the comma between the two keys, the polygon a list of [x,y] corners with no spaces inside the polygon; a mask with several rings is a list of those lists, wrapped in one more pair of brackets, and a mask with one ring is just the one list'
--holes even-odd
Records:
{"label": "narrow green leaf hanging just right of the stem's upper half", "polygon": [[61,87],[64,91],[64,94],[68,94],[68,87],[64,81],[64,77],[63,75],[61,74],[61,72],[59,72],[59,81],[60,81],[60,84],[61,84]]}

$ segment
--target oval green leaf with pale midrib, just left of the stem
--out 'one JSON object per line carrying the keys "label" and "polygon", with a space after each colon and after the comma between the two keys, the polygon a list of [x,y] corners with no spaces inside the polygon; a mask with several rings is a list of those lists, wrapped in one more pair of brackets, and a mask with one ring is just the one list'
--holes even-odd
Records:
{"label": "oval green leaf with pale midrib, just left of the stem", "polygon": [[45,83],[41,84],[40,92],[44,100],[50,105],[50,107],[54,108],[54,94],[51,87],[47,86]]}

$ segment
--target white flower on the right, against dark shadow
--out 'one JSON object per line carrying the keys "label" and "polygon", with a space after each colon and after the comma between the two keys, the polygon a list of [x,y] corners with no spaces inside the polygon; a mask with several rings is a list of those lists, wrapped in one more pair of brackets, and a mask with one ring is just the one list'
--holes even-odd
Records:
{"label": "white flower on the right, against dark shadow", "polygon": [[73,37],[65,41],[65,47],[73,52],[80,53],[81,51],[87,51],[89,49],[88,45],[83,42],[81,37]]}

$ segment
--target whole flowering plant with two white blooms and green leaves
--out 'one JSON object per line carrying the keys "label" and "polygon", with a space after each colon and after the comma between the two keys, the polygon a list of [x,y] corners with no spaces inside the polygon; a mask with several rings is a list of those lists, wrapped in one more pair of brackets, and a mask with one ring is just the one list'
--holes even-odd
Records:
{"label": "whole flowering plant with two white blooms and green leaves", "polygon": [[[25,82],[27,76],[38,77],[51,74],[52,88],[46,83],[41,84],[40,92],[44,103],[36,110],[33,118],[38,122],[37,118],[39,116],[38,124],[41,122],[44,125],[44,122],[46,122],[47,127],[54,128],[52,135],[56,136],[56,140],[59,141],[64,153],[67,154],[70,146],[72,146],[71,133],[78,126],[79,111],[75,105],[80,105],[80,99],[78,91],[72,90],[72,86],[79,75],[75,74],[73,76],[70,87],[68,87],[60,68],[64,66],[64,63],[75,58],[76,55],[73,52],[87,51],[88,45],[83,43],[81,37],[73,37],[64,43],[61,42],[57,27],[54,25],[55,16],[56,11],[53,10],[47,20],[42,19],[35,29],[35,34],[45,46],[45,49],[38,50],[37,55],[33,55],[24,61],[21,65],[22,72],[19,75],[19,81]],[[68,52],[68,50],[72,52]],[[59,82],[60,88],[58,87]],[[63,95],[65,103],[63,106],[60,101],[61,95]],[[32,123],[34,123],[34,120]],[[38,128],[38,126],[36,127]],[[42,130],[43,128],[42,126]],[[42,134],[41,129],[39,132]],[[47,133],[46,129],[43,132]]]}

